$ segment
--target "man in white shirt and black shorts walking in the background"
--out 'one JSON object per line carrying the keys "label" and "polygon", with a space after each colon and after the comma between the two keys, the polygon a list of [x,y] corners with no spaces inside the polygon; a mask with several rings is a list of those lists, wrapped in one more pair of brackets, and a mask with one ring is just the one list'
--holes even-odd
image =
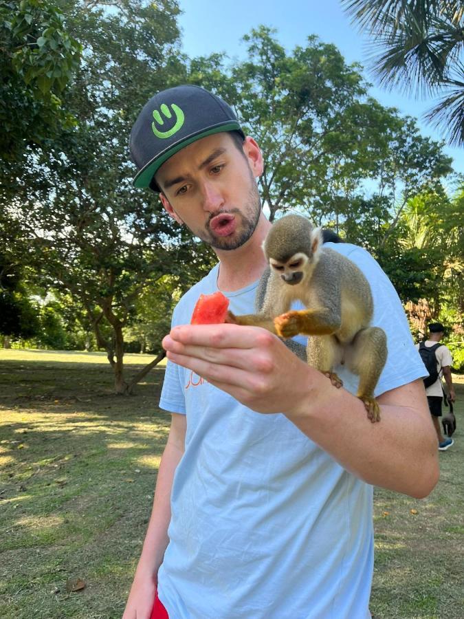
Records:
{"label": "man in white shirt and black shorts walking in the background", "polygon": [[[436,347],[445,334],[445,327],[441,323],[431,323],[428,325],[429,336],[423,344],[426,348]],[[421,345],[417,344],[416,348],[419,350]],[[439,442],[439,450],[445,451],[454,444],[452,438],[444,437],[441,432],[440,420],[441,417],[441,402],[443,401],[443,389],[441,387],[441,377],[445,378],[445,382],[448,386],[448,399],[454,402],[456,394],[454,393],[454,386],[451,376],[451,366],[453,359],[449,349],[442,344],[434,350],[435,358],[437,360],[437,373],[438,377],[434,383],[426,387],[426,395],[430,415],[434,424],[435,431],[437,432],[437,439]]]}

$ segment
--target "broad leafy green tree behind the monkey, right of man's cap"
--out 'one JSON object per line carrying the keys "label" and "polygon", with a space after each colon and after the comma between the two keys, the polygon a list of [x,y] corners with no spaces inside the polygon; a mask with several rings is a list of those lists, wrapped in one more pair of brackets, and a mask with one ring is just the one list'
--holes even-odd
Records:
{"label": "broad leafy green tree behind the monkey, right of man's cap", "polygon": [[186,79],[232,102],[260,144],[270,219],[302,210],[371,249],[385,243],[408,198],[452,171],[442,145],[368,96],[360,66],[335,45],[309,36],[288,53],[265,26],[245,41],[245,61],[197,58]]}

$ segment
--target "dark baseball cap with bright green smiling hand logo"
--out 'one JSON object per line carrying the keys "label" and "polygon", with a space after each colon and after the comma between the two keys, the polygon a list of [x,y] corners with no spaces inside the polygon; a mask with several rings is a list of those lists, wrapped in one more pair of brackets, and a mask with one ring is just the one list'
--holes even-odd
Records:
{"label": "dark baseball cap with bright green smiling hand logo", "polygon": [[234,111],[225,101],[199,86],[176,86],[155,94],[143,107],[130,138],[139,171],[135,187],[159,191],[153,176],[178,151],[206,135],[239,131]]}

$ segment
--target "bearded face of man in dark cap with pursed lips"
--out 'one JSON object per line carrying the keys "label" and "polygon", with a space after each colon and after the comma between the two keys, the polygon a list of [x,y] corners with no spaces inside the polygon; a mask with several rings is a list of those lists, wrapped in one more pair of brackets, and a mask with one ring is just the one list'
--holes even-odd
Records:
{"label": "bearded face of man in dark cap with pursed lips", "polygon": [[234,250],[252,236],[261,215],[255,176],[261,152],[247,138],[243,153],[228,133],[189,144],[156,173],[168,213],[217,250]]}

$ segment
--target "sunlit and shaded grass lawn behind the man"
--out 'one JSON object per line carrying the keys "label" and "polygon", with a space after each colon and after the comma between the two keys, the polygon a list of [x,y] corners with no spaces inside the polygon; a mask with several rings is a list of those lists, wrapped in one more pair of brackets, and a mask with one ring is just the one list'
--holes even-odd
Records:
{"label": "sunlit and shaded grass lawn behind the man", "polygon": [[[149,360],[126,358],[134,371]],[[102,354],[0,349],[5,619],[122,616],[168,433],[157,409],[163,373],[123,397]],[[376,619],[463,617],[462,382],[457,395],[456,442],[440,454],[430,497],[375,490]],[[68,591],[76,578],[85,588]]]}

